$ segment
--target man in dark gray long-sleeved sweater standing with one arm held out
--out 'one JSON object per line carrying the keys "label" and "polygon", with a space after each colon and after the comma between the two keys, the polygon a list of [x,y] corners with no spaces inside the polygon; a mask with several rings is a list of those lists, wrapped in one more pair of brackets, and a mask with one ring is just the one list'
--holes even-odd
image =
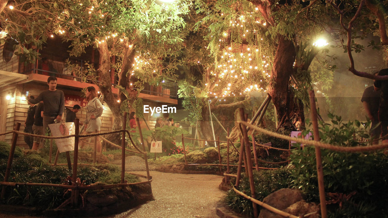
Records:
{"label": "man in dark gray long-sleeved sweater standing with one arm held out", "polygon": [[37,104],[43,100],[43,131],[49,128],[49,124],[61,121],[65,109],[65,95],[63,91],[57,90],[57,78],[50,76],[47,79],[49,90],[43,91],[35,99],[28,99],[29,102]]}

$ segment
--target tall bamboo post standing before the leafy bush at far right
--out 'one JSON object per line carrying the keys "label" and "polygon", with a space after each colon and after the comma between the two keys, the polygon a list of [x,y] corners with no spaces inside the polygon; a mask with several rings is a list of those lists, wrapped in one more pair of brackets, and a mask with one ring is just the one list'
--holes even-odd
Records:
{"label": "tall bamboo post standing before the leafy bush at far right", "polygon": [[[308,91],[308,94],[310,95],[310,109],[311,109],[311,120],[313,123],[314,140],[319,141],[320,137],[319,137],[319,130],[318,130],[317,109],[315,107],[315,94],[313,90]],[[327,218],[325,186],[324,186],[323,169],[322,169],[322,156],[321,156],[320,148],[317,146],[315,146],[315,160],[317,161],[321,217]]]}

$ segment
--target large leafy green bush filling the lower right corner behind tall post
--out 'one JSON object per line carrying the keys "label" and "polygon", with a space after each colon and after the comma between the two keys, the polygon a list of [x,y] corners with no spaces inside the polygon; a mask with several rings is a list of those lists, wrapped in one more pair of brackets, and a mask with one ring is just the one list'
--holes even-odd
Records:
{"label": "large leafy green bush filling the lower right corner behind tall post", "polygon": [[[320,122],[322,142],[341,146],[367,145],[367,128],[359,121],[343,123],[341,117],[329,114],[331,123]],[[368,126],[366,123],[365,126]],[[310,131],[310,130],[307,130]],[[305,131],[304,134],[307,132]],[[349,196],[330,205],[331,217],[381,217],[388,209],[388,159],[383,152],[348,153],[321,149],[326,193]],[[307,200],[319,202],[314,147],[294,150],[291,154],[293,186],[300,189]],[[355,194],[352,194],[355,193]],[[330,199],[329,199],[330,200]],[[339,206],[342,204],[342,208]],[[376,212],[378,211],[378,212]],[[358,214],[358,216],[353,216]],[[364,214],[365,216],[362,216]]]}

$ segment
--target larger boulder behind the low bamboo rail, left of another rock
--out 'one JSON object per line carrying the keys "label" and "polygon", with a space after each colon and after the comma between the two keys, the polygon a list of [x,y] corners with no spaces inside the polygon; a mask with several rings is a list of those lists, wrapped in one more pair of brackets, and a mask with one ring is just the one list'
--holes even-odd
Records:
{"label": "larger boulder behind the low bamboo rail, left of another rock", "polygon": [[[263,202],[276,209],[284,211],[284,209],[301,200],[303,200],[303,198],[300,190],[280,189],[265,197]],[[262,208],[259,218],[283,218],[283,216],[277,215],[265,208]]]}

